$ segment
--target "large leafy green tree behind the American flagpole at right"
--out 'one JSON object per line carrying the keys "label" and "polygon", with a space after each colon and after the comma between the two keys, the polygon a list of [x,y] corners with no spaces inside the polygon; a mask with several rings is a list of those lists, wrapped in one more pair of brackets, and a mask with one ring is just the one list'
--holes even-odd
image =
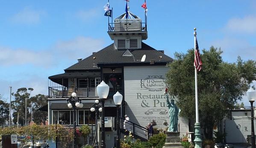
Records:
{"label": "large leafy green tree behind the American flagpole at right", "polygon": [[[240,57],[236,63],[224,62],[221,49],[213,46],[202,53],[202,69],[197,71],[199,117],[206,139],[212,139],[214,124],[220,123],[227,109],[241,100],[256,80],[256,62],[243,61]],[[167,64],[170,67],[166,73],[168,91],[177,96],[179,116],[195,119],[194,49],[174,55],[175,60]]]}

